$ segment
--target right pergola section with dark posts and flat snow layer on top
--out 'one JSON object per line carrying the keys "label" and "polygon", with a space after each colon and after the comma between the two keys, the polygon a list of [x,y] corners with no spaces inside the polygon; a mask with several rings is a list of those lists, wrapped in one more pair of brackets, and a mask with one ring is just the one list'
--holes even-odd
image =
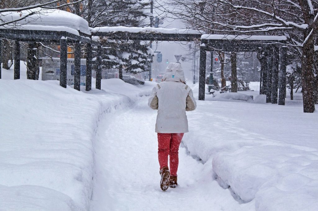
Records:
{"label": "right pergola section with dark posts and flat snow layer on top", "polygon": [[[287,38],[285,36],[202,35],[200,46],[199,100],[204,100],[205,98],[206,51],[256,51],[266,52],[268,54],[267,60],[261,68],[260,93],[262,94],[263,92],[266,94],[266,102],[276,104],[278,100],[279,105],[285,105],[287,48],[284,47],[284,44],[286,40]],[[278,89],[280,90],[279,98]]]}

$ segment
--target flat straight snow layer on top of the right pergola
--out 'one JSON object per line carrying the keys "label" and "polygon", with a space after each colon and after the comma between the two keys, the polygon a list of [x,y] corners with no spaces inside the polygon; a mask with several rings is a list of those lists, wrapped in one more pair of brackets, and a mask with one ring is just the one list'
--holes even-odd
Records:
{"label": "flat straight snow layer on top of the right pergola", "polygon": [[270,35],[207,35],[201,36],[206,40],[264,40],[264,41],[282,41],[287,40],[286,36],[270,36]]}

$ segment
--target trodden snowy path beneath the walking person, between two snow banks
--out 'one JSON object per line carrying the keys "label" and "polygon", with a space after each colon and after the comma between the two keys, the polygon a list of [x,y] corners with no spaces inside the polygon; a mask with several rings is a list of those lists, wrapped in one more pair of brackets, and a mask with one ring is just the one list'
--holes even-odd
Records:
{"label": "trodden snowy path beneath the walking person, between two snow banks", "polygon": [[179,150],[176,189],[160,189],[156,111],[142,97],[126,111],[106,114],[95,143],[91,210],[255,210],[239,204],[212,177],[211,160],[202,164]]}

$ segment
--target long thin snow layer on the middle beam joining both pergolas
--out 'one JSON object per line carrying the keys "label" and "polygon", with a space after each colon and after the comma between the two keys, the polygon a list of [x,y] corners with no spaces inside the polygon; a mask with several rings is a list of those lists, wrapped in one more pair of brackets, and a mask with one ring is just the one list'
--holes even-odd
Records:
{"label": "long thin snow layer on the middle beam joining both pergolas", "polygon": [[153,27],[125,27],[125,26],[112,26],[112,27],[96,27],[91,32],[115,33],[115,32],[129,32],[129,33],[161,33],[161,34],[202,34],[202,31],[193,29],[165,29]]}

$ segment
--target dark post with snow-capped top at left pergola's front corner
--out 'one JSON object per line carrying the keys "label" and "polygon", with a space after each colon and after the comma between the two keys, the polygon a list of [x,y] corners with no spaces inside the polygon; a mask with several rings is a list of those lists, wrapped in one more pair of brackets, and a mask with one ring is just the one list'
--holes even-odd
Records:
{"label": "dark post with snow-capped top at left pergola's front corner", "polygon": [[60,39],[60,86],[66,88],[67,82],[67,39]]}

